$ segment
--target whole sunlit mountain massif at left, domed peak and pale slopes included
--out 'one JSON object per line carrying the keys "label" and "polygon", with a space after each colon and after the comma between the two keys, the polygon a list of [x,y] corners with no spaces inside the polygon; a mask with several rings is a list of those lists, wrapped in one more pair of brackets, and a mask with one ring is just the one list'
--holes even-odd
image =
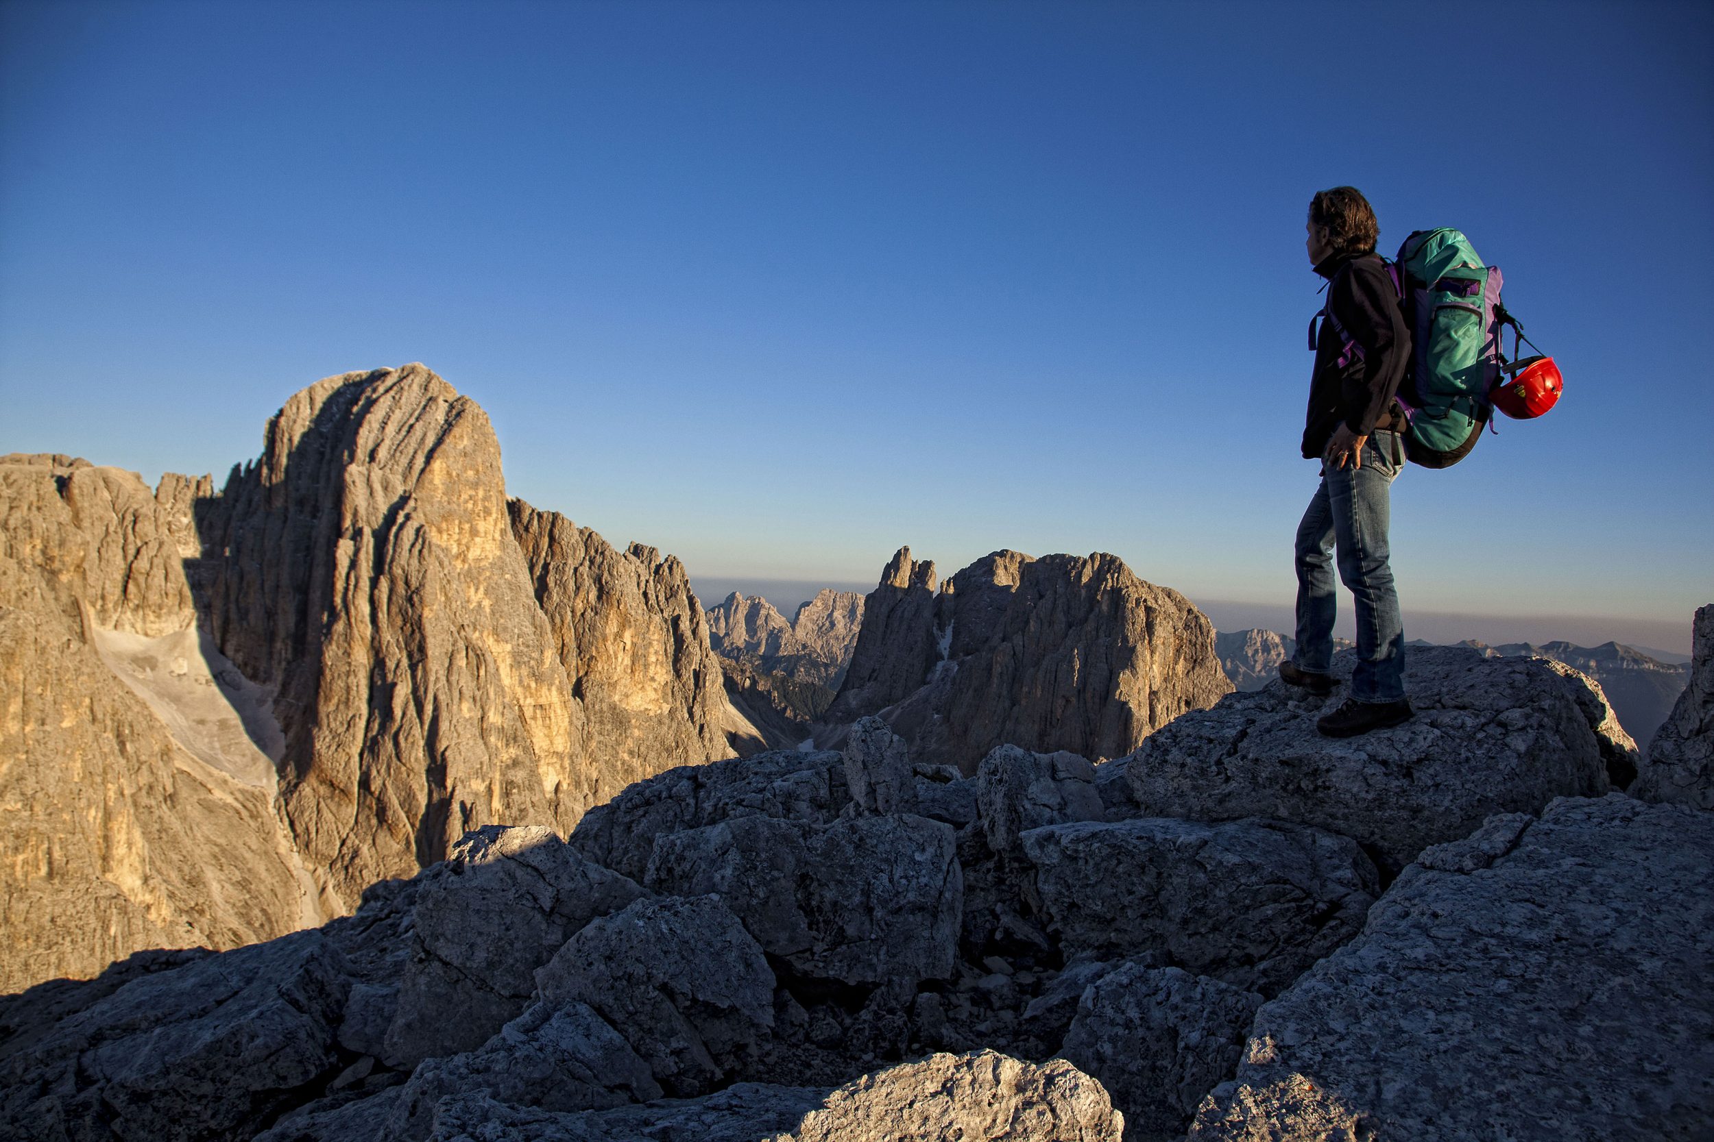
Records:
{"label": "whole sunlit mountain massif at left, domed peak and pale slopes included", "polygon": [[10,986],[319,923],[470,827],[569,832],[730,753],[684,567],[507,500],[420,365],[295,394],[219,491],[0,469]]}

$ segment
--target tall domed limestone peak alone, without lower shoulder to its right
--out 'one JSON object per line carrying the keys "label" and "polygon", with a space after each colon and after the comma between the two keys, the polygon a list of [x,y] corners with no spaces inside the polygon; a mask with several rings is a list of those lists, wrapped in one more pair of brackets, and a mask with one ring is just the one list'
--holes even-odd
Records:
{"label": "tall domed limestone peak alone, without lower shoulder to its right", "polygon": [[583,711],[473,401],[422,366],[317,382],[206,522],[214,637],[278,687],[281,812],[341,911],[466,829],[588,808]]}

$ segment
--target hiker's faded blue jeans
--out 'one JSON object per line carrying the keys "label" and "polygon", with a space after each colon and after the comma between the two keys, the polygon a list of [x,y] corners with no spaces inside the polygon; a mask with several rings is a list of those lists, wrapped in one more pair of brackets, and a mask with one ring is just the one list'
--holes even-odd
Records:
{"label": "hiker's faded blue jeans", "polygon": [[1363,445],[1363,467],[1333,467],[1323,461],[1321,486],[1297,524],[1297,651],[1292,661],[1323,675],[1333,661],[1337,541],[1339,577],[1357,604],[1357,666],[1351,675],[1351,697],[1357,702],[1404,697],[1404,623],[1387,565],[1397,445],[1397,433],[1376,431]]}

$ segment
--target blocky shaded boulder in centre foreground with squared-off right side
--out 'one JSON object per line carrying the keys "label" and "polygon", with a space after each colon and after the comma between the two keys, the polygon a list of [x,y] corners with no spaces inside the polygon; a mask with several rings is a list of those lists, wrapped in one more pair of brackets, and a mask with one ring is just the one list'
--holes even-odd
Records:
{"label": "blocky shaded boulder in centre foreground with squared-off right side", "polygon": [[646,883],[718,894],[764,952],[807,978],[915,986],[953,971],[963,878],[941,822],[737,817],[656,839]]}

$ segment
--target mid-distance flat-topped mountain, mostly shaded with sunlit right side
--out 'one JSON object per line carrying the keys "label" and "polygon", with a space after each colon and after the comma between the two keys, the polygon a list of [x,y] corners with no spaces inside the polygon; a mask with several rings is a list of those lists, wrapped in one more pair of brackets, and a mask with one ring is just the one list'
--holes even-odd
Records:
{"label": "mid-distance flat-topped mountain, mostly shaded with sunlit right side", "polygon": [[965,774],[999,745],[1119,757],[1232,688],[1202,611],[1111,555],[996,551],[934,582],[893,556],[818,741],[879,714],[919,762]]}

